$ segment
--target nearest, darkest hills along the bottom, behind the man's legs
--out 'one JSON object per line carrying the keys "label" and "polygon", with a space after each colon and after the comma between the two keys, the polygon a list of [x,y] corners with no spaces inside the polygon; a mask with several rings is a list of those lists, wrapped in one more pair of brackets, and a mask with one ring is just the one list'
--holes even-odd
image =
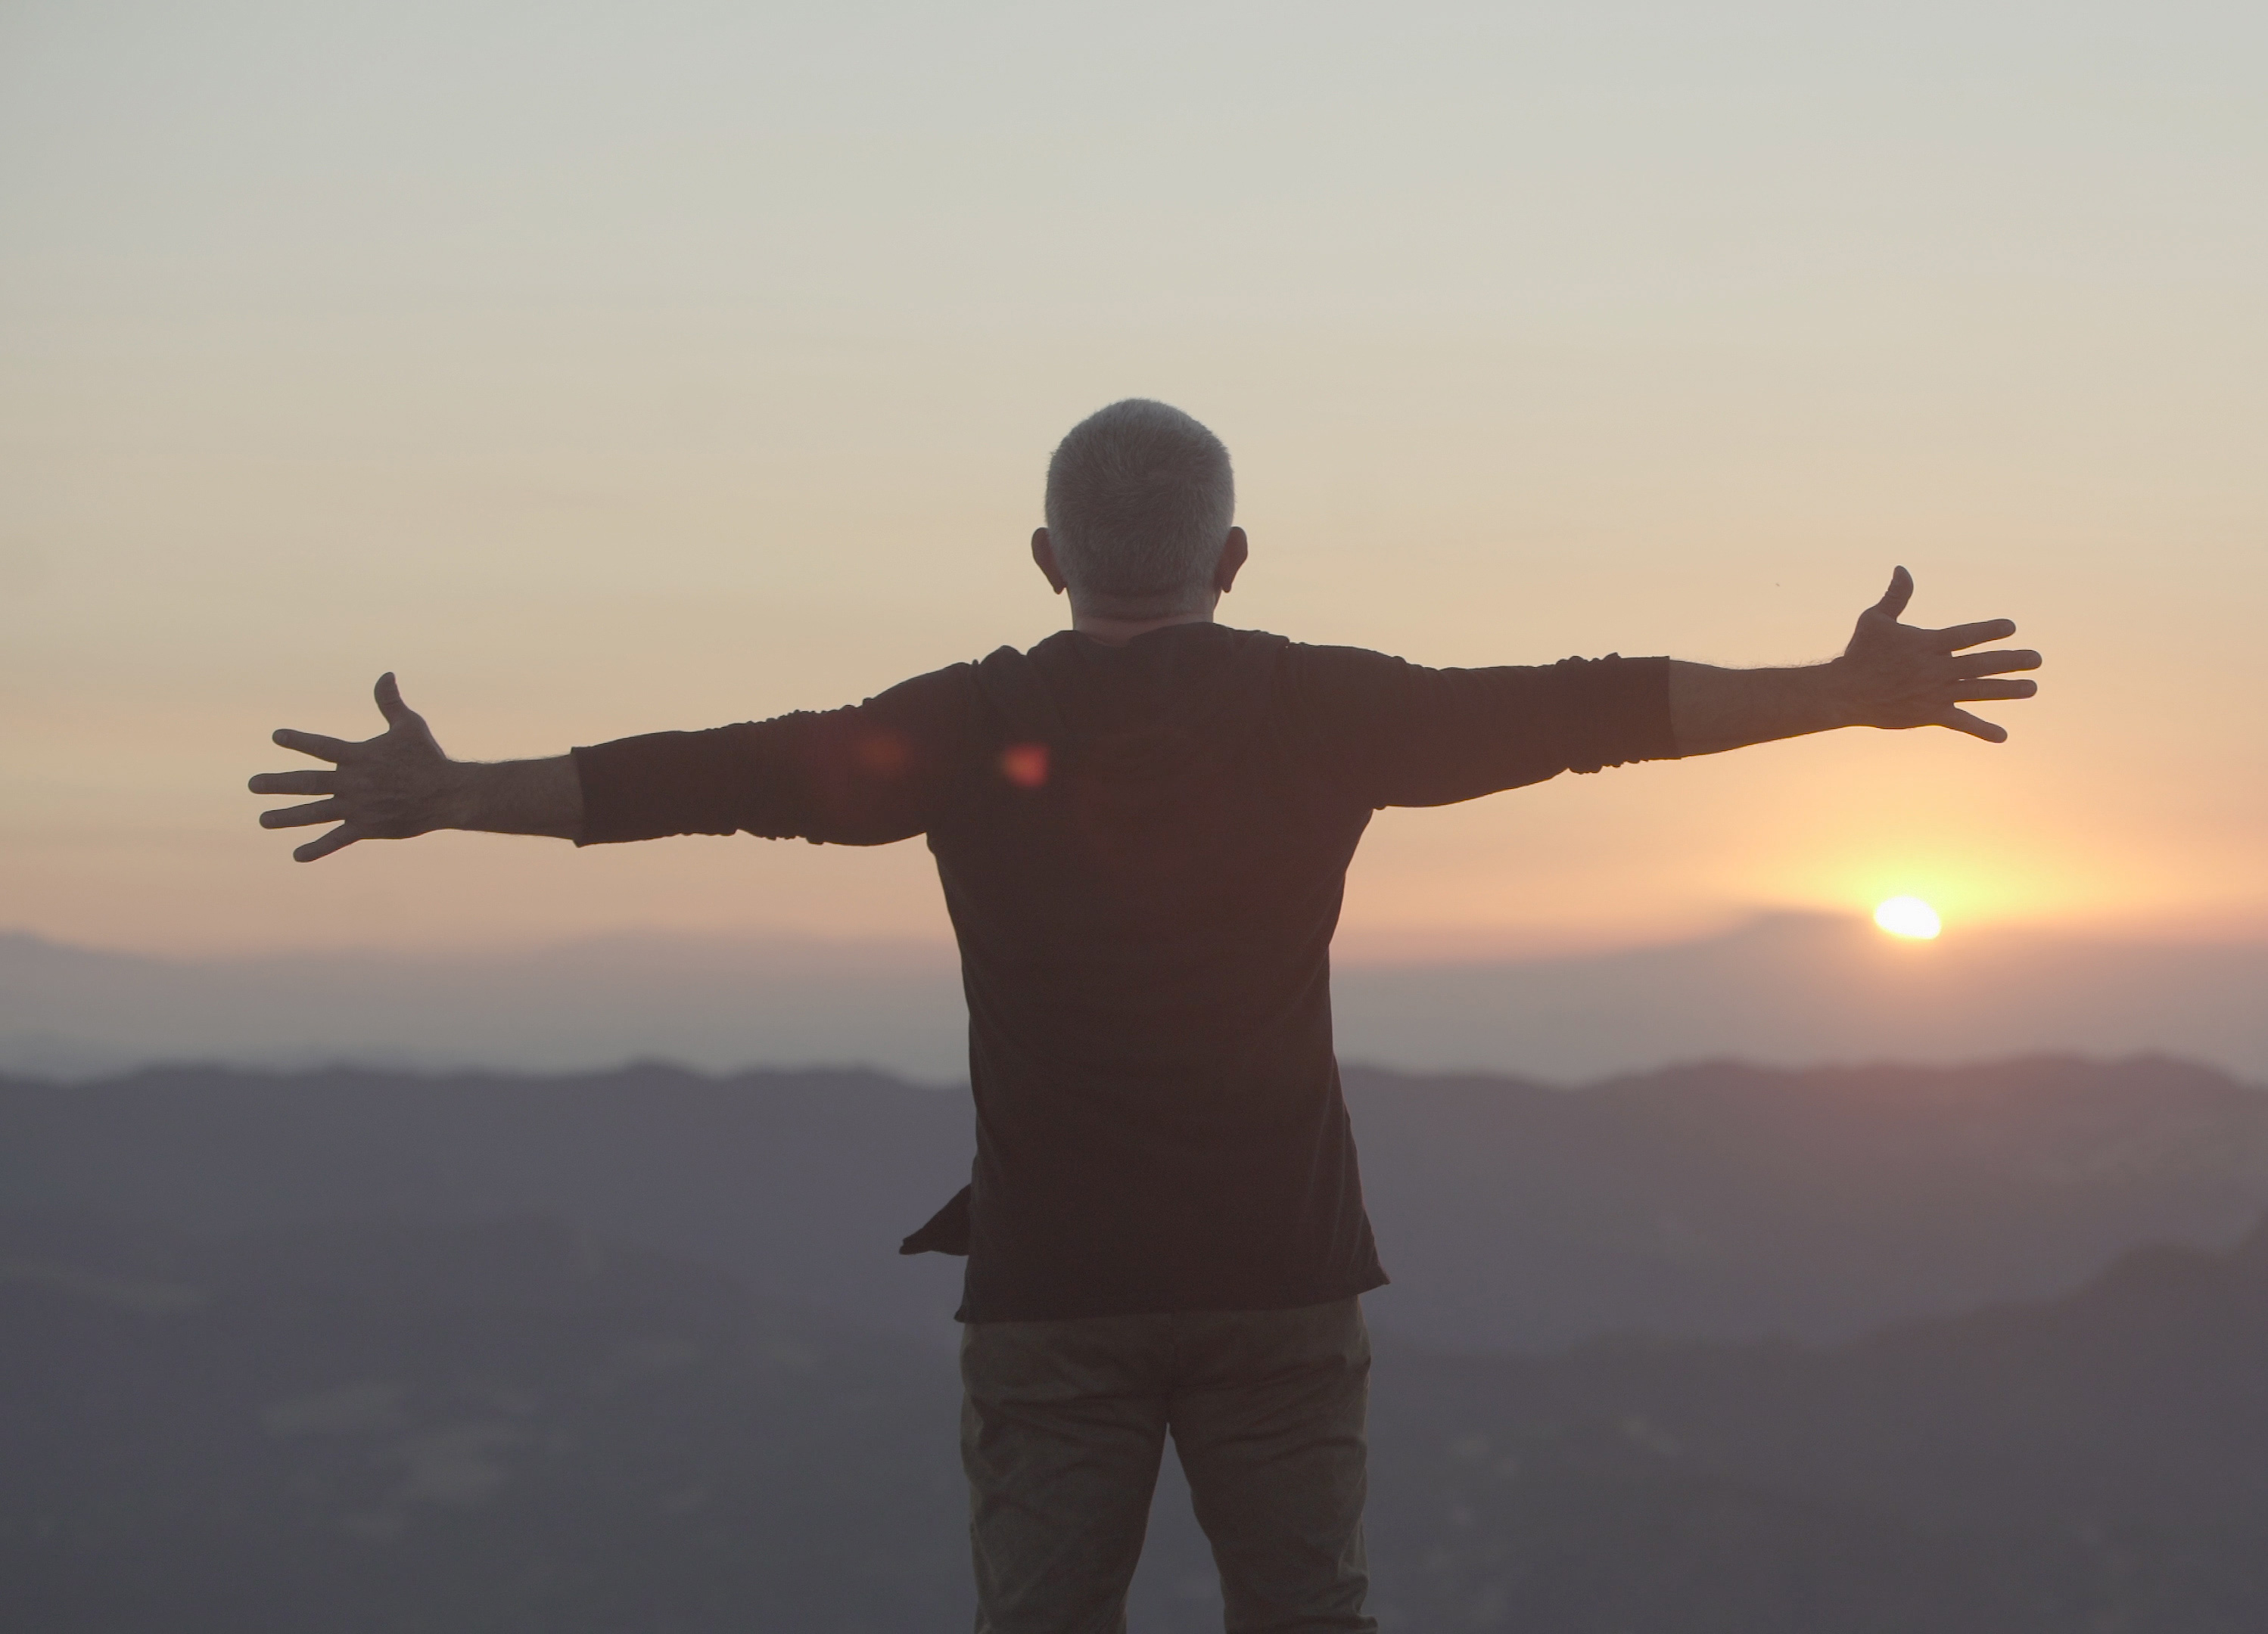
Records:
{"label": "nearest, darkest hills along the bottom, behind the man's legs", "polygon": [[[1388,1634],[2250,1634],[2268,1235],[1837,1348],[1381,1346]],[[964,1627],[953,1367],[542,1219],[0,1224],[0,1627]],[[1132,1634],[1218,1629],[1184,1516]]]}

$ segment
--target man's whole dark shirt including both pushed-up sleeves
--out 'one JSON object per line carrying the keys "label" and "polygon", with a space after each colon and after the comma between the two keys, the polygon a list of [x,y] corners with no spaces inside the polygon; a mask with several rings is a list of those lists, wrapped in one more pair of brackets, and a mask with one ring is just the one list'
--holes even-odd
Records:
{"label": "man's whole dark shirt including both pushed-up sleeves", "polygon": [[978,1156],[907,1249],[968,1253],[964,1321],[1023,1321],[1381,1285],[1329,995],[1370,814],[1674,752],[1665,659],[1422,669],[1186,623],[576,766],[585,843],[928,836]]}

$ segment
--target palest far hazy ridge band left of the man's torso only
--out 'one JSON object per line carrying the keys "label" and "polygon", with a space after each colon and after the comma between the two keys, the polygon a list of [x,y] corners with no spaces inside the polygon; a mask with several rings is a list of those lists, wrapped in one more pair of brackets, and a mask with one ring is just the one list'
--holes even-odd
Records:
{"label": "palest far hazy ridge band left of the man's torso only", "polygon": [[880,943],[612,938],[510,956],[147,959],[0,934],[0,1072],[166,1061],[562,1072],[667,1056],[968,1076],[953,954]]}

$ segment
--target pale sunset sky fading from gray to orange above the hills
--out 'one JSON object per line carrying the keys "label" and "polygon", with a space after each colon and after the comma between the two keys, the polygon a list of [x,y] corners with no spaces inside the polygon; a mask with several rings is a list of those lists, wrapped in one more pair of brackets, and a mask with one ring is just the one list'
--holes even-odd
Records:
{"label": "pale sunset sky fading from gray to orange above the hills", "polygon": [[0,927],[937,943],[919,843],[288,861],[277,725],[830,707],[1064,605],[1055,440],[1229,444],[1232,623],[1433,664],[2012,616],[2005,748],[1388,811],[1347,959],[1778,909],[2268,938],[2257,5],[0,5]]}

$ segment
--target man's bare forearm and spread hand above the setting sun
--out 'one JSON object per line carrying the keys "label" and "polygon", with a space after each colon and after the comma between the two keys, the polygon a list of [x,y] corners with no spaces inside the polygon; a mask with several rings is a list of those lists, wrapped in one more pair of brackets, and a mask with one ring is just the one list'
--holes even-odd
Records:
{"label": "man's bare forearm and spread hand above the setting sun", "polygon": [[1962,653],[1980,641],[2005,641],[2016,635],[2016,625],[2007,619],[1957,623],[1950,630],[1898,623],[1912,596],[1914,578],[1901,567],[1882,601],[1857,616],[1851,646],[1828,664],[1717,669],[1672,662],[1669,727],[1678,755],[1715,755],[1844,725],[1944,725],[1987,743],[2005,743],[2005,727],[1980,721],[1960,705],[2030,698],[2039,682],[1994,678],[2039,669],[2039,653]]}

